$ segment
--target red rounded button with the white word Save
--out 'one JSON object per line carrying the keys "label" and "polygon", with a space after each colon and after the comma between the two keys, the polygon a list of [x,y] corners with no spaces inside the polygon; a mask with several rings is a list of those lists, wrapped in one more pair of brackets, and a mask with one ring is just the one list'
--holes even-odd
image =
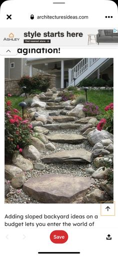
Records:
{"label": "red rounded button with the white word Save", "polygon": [[50,233],[50,240],[54,243],[64,243],[68,239],[68,234],[64,230],[54,230]]}

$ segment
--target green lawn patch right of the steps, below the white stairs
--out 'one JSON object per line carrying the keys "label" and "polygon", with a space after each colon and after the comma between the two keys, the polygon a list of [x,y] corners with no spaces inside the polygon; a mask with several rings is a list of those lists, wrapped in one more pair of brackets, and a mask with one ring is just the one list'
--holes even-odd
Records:
{"label": "green lawn patch right of the steps, below the white stairs", "polygon": [[[85,95],[84,91],[78,91],[76,96]],[[99,107],[100,112],[104,112],[104,107],[113,102],[113,90],[88,90],[87,101],[93,102]]]}

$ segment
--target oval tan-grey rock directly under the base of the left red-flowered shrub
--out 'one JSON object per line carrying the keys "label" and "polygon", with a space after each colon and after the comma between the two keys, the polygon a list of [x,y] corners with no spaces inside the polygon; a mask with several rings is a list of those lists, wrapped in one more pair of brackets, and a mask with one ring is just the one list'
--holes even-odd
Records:
{"label": "oval tan-grey rock directly under the base of the left red-flowered shrub", "polygon": [[20,154],[14,153],[12,163],[22,169],[22,171],[30,171],[33,169],[33,164],[28,159],[23,158]]}

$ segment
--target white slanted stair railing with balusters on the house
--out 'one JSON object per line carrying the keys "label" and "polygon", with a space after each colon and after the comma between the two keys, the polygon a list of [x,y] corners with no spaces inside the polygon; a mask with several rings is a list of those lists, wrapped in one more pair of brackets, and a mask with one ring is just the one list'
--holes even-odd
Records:
{"label": "white slanted stair railing with balusters on the house", "polygon": [[84,58],[79,61],[72,69],[70,69],[70,83],[79,77],[85,70],[87,70],[91,65],[94,64],[99,58]]}

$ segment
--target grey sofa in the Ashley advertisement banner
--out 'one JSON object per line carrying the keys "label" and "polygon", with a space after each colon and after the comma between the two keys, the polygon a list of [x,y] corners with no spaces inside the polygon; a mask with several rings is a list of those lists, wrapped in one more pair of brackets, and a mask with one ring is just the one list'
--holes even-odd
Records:
{"label": "grey sofa in the Ashley advertisement banner", "polygon": [[96,42],[99,43],[118,43],[118,33],[113,33],[112,29],[99,29],[96,35]]}

